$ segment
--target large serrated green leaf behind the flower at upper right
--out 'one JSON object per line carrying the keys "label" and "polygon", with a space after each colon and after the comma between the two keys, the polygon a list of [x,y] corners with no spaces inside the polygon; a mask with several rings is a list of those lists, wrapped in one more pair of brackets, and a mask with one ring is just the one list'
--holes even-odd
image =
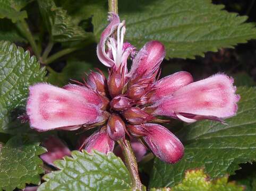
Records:
{"label": "large serrated green leaf behind the flower at upper right", "polygon": [[[223,11],[210,0],[122,1],[120,18],[126,20],[126,40],[141,48],[150,40],[166,47],[166,58],[194,58],[206,51],[233,47],[256,38],[246,16]],[[99,38],[107,23],[107,10],[96,12],[92,23]]]}

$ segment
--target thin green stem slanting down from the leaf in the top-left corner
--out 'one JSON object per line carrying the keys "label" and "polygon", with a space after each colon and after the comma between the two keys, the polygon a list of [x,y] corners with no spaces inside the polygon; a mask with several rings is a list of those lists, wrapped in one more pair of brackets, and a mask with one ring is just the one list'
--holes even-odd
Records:
{"label": "thin green stem slanting down from the leaf in the top-left corner", "polygon": [[23,19],[23,20],[17,22],[17,27],[20,29],[21,33],[28,39],[28,41],[33,49],[33,52],[35,53],[37,59],[39,60],[40,52],[37,47],[36,41],[33,38],[33,35],[29,29],[28,23]]}

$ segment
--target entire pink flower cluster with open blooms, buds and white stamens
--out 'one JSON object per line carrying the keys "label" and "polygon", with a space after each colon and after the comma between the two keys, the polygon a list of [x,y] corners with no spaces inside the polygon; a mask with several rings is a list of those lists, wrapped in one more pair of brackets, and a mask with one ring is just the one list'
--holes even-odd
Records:
{"label": "entire pink flower cluster with open blooms, buds and white stamens", "polygon": [[[166,122],[159,116],[188,123],[232,117],[239,100],[233,80],[216,74],[193,82],[191,74],[183,71],[158,80],[164,45],[149,41],[137,53],[124,42],[125,30],[125,22],[110,13],[97,46],[100,62],[109,67],[108,77],[98,70],[91,72],[84,84],[30,86],[30,125],[38,131],[99,127],[79,146],[88,152],[112,152],[115,141],[126,133],[141,139],[156,157],[175,163],[183,156],[183,145],[168,129],[155,124]],[[128,58],[132,59],[130,71]]]}

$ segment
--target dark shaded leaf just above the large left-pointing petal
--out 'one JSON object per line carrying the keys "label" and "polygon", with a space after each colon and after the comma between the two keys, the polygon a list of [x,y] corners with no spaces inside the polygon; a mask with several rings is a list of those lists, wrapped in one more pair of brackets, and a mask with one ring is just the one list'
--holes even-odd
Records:
{"label": "dark shaded leaf just above the large left-pointing petal", "polygon": [[81,81],[91,67],[92,65],[86,62],[68,60],[62,72],[50,73],[47,81],[58,86],[64,86],[70,80]]}

